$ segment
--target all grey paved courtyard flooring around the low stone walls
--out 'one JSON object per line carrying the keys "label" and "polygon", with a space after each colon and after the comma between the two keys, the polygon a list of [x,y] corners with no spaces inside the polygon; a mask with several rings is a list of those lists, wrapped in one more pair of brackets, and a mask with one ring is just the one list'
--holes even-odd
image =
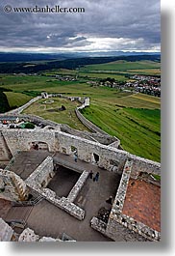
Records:
{"label": "all grey paved courtyard flooring around the low stone walls", "polygon": [[[52,156],[52,154],[43,151],[20,153],[13,163],[12,170],[25,180],[46,156]],[[74,202],[86,211],[85,219],[80,221],[48,201],[42,200],[34,207],[13,207],[7,213],[6,220],[13,218],[23,219],[27,222],[27,226],[34,229],[39,236],[61,238],[63,233],[65,233],[76,241],[112,241],[101,233],[93,230],[89,226],[89,222],[93,216],[97,215],[102,207],[111,210],[111,205],[106,203],[106,199],[109,198],[110,195],[114,198],[121,176],[100,169],[98,166],[80,159],[75,162],[73,156],[66,156],[60,153],[55,154],[54,162],[59,163],[59,168],[56,176],[48,187],[56,191],[58,196],[67,196],[80,177],[81,172],[84,170],[92,170],[93,175],[95,175],[97,171],[99,172],[98,182],[87,178],[85,185]],[[61,166],[61,162],[63,162],[64,167]],[[75,171],[76,169],[77,172]],[[129,234],[128,230],[125,230],[124,233]],[[129,235],[130,241],[136,241],[135,236]],[[120,228],[118,228],[117,236],[118,241],[126,241],[124,237],[121,236]]]}

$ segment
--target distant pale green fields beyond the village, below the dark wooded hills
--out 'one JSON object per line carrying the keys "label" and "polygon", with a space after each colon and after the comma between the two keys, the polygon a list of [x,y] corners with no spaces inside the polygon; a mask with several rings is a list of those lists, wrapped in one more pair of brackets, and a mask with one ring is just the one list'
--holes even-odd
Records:
{"label": "distant pale green fields beyond the village, below the dark wooded hills", "polygon": [[153,61],[115,61],[112,63],[87,65],[77,70],[57,70],[44,72],[46,75],[79,75],[79,77],[101,79],[110,76],[117,81],[126,81],[129,75],[161,75],[161,63]]}

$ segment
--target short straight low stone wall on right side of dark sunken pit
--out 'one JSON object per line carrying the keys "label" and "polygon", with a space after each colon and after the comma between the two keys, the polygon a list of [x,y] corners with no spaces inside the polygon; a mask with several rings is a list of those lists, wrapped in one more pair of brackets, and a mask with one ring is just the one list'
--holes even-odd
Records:
{"label": "short straight low stone wall on right side of dark sunken pit", "polygon": [[74,202],[78,193],[82,189],[83,185],[85,185],[85,183],[87,181],[87,177],[88,177],[88,172],[84,171],[82,173],[82,175],[80,176],[80,178],[78,179],[77,183],[73,186],[73,188],[71,189],[71,191],[69,192],[69,194],[67,196],[67,200],[69,202],[71,202],[71,203]]}

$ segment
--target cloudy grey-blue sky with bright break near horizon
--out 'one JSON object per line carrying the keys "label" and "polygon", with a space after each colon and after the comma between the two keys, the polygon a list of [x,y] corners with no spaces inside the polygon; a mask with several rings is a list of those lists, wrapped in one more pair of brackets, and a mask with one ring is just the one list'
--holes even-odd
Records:
{"label": "cloudy grey-blue sky with bright break near horizon", "polygon": [[[85,13],[13,12],[46,5]],[[1,0],[0,51],[160,51],[160,18],[160,0]]]}

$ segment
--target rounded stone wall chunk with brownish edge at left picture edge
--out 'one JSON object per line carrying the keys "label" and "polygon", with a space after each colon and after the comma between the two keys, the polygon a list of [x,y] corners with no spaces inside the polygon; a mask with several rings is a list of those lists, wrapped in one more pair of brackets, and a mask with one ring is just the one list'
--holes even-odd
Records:
{"label": "rounded stone wall chunk with brownish edge at left picture edge", "polygon": [[10,201],[24,201],[28,188],[19,176],[8,170],[0,170],[0,198]]}

